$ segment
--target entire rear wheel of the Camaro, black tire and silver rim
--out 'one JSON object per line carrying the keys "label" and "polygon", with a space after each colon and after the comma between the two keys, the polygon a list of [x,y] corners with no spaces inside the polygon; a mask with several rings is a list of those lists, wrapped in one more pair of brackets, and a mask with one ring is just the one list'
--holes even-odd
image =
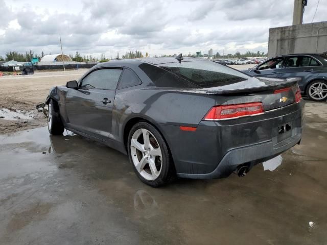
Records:
{"label": "entire rear wheel of the Camaro, black tire and silver rim", "polygon": [[138,122],[130,130],[128,156],[137,177],[147,185],[165,185],[174,175],[168,145],[160,132],[148,122]]}

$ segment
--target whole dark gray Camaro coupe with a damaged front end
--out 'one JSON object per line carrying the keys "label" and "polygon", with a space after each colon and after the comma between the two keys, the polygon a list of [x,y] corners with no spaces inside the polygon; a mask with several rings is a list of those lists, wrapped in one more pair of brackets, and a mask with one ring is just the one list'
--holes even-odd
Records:
{"label": "whole dark gray Camaro coupe with a damaged front end", "polygon": [[113,60],[50,91],[48,128],[128,154],[151,186],[176,174],[243,176],[300,142],[297,81],[254,78],[195,58]]}

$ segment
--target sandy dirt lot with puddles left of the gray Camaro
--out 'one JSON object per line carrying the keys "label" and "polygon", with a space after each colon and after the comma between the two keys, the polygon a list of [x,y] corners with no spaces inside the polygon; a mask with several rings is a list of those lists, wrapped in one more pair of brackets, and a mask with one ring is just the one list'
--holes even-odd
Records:
{"label": "sandy dirt lot with puddles left of the gray Camaro", "polygon": [[49,90],[79,79],[87,69],[35,72],[32,76],[0,78],[0,134],[46,125],[43,113],[35,106],[43,103]]}

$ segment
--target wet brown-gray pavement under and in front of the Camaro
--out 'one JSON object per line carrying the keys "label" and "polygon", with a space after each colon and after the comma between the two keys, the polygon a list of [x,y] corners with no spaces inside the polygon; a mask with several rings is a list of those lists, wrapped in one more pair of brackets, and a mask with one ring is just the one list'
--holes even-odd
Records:
{"label": "wet brown-gray pavement under and in front of the Camaro", "polygon": [[301,145],[246,177],[157,189],[78,135],[0,135],[0,244],[327,244],[327,114],[309,106]]}

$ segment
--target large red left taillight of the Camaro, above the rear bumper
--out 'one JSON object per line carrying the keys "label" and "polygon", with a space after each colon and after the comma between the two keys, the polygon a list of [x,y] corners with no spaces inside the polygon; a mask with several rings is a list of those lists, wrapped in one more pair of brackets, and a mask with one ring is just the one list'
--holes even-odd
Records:
{"label": "large red left taillight of the Camaro, above the rear bumper", "polygon": [[262,113],[264,113],[264,107],[261,102],[214,106],[204,116],[203,120],[224,120],[243,116],[259,115]]}

